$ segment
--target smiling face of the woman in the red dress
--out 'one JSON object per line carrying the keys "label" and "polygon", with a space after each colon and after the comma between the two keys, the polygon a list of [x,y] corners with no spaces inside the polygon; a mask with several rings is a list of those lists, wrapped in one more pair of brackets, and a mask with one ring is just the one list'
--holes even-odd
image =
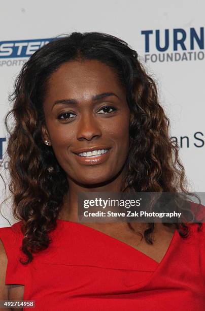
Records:
{"label": "smiling face of the woman in the red dress", "polygon": [[130,113],[126,91],[110,67],[97,60],[64,63],[50,76],[43,105],[43,138],[68,180],[92,185],[119,175]]}

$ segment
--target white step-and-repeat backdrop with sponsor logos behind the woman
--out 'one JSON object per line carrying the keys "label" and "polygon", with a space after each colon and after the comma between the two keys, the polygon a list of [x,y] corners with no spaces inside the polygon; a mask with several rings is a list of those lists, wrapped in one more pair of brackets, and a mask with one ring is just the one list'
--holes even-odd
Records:
{"label": "white step-and-repeat backdrop with sponsor logos behind the woman", "polygon": [[[103,32],[126,41],[138,51],[147,72],[157,82],[160,102],[180,146],[190,190],[204,192],[205,86],[203,1],[10,1],[1,4],[0,18],[0,166],[6,184],[4,159],[8,133],[4,118],[11,108],[8,96],[22,65],[52,38],[72,32]],[[0,202],[5,186],[0,179]],[[7,189],[6,196],[9,196]],[[2,206],[0,227],[13,219],[11,203]]]}

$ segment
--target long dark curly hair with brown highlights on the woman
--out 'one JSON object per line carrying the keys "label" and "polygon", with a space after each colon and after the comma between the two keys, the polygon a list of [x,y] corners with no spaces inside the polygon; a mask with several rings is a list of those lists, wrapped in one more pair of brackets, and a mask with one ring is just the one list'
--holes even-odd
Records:
{"label": "long dark curly hair with brown highlights on the woman", "polygon": [[[159,104],[156,84],[143,68],[138,53],[123,40],[104,33],[74,32],[53,38],[23,65],[9,98],[13,107],[5,118],[12,212],[16,220],[23,221],[21,250],[27,260],[21,260],[22,264],[30,263],[32,253],[49,246],[49,232],[56,228],[63,198],[69,191],[65,172],[52,147],[46,146],[42,138],[47,82],[63,63],[82,59],[96,59],[108,65],[126,88],[131,120],[123,191],[188,193],[179,147],[169,137],[169,119]],[[14,117],[11,129],[10,115]],[[163,225],[174,226],[182,237],[189,233],[184,223]],[[153,230],[154,223],[149,223],[144,231],[147,243],[153,243]]]}

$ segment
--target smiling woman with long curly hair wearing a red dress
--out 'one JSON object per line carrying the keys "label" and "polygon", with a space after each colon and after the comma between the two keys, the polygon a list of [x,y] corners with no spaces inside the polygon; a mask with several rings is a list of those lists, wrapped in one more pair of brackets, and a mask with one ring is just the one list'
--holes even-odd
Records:
{"label": "smiling woman with long curly hair wearing a red dress", "polygon": [[57,38],[23,66],[11,99],[18,222],[0,229],[0,298],[36,310],[202,310],[201,223],[78,222],[80,192],[187,193],[138,54],[103,33]]}

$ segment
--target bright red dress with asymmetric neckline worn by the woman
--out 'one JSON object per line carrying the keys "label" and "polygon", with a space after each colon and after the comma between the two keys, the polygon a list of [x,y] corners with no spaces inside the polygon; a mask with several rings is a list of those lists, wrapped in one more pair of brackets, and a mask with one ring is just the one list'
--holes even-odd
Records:
{"label": "bright red dress with asymmetric neckline worn by the woman", "polygon": [[[18,222],[0,229],[8,257],[6,284],[23,284],[35,311],[205,310],[205,229],[176,230],[160,263],[105,233],[57,220],[47,250],[23,266]],[[32,310],[24,308],[23,310]]]}

